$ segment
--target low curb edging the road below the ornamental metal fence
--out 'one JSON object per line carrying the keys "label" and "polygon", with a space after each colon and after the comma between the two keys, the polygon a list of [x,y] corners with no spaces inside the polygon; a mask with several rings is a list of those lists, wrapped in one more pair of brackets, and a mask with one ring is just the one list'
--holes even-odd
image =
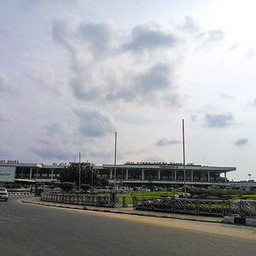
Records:
{"label": "low curb edging the road below the ornamental metal fence", "polygon": [[[112,212],[111,210],[99,210],[99,209],[87,209],[87,208],[80,208],[80,207],[70,207],[70,206],[58,206],[58,205],[50,205],[32,201],[22,201],[23,203],[32,204],[32,205],[39,205],[44,207],[56,207],[56,208],[66,208],[66,209],[75,209],[75,210],[82,210],[82,211],[90,211],[90,212],[108,212],[108,213],[116,213],[116,214],[124,214],[124,215],[135,215],[135,216],[144,216],[144,217],[154,217],[154,218],[172,218],[172,219],[179,219],[179,220],[189,220],[189,221],[197,221],[197,222],[206,222],[206,223],[218,223],[223,224],[223,220],[215,221],[215,220],[207,220],[207,219],[196,219],[196,218],[178,218],[173,216],[159,216],[154,214],[147,214],[147,213],[137,213],[137,212]],[[86,207],[86,206],[84,206]]]}

